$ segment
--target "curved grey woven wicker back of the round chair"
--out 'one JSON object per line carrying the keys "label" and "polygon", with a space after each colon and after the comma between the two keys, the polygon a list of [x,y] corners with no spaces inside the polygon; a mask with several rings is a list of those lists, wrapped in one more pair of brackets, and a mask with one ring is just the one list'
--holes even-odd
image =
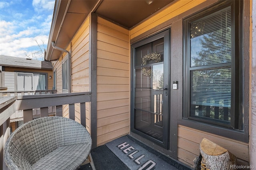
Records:
{"label": "curved grey woven wicker back of the round chair", "polygon": [[70,162],[79,166],[79,162],[82,164],[92,146],[92,139],[86,128],[68,118],[43,117],[25,123],[10,135],[4,148],[4,159],[10,169],[29,170],[57,148],[74,145],[84,145],[88,150],[88,153],[84,153],[85,158],[78,163],[71,156]]}

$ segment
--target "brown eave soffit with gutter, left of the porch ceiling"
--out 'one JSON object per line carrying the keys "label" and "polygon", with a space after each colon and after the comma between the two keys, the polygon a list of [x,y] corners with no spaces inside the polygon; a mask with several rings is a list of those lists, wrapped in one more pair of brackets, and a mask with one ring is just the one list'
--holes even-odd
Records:
{"label": "brown eave soffit with gutter, left of the porch ceiling", "polygon": [[53,49],[51,42],[65,49],[97,2],[98,0],[70,0],[69,3],[68,0],[56,0],[56,16],[53,16],[52,20],[46,60],[56,60],[60,57],[62,51]]}

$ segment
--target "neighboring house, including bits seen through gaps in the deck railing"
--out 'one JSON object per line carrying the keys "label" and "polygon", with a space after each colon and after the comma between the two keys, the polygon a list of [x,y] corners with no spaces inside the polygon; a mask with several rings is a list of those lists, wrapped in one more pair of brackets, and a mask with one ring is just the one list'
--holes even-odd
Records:
{"label": "neighboring house, including bits seen through gaps in the deck railing", "polygon": [[[33,95],[54,88],[52,63],[49,61],[0,55],[0,68],[0,95]],[[34,117],[38,114],[34,109]],[[23,113],[16,111],[10,118],[12,131],[22,124]]]}

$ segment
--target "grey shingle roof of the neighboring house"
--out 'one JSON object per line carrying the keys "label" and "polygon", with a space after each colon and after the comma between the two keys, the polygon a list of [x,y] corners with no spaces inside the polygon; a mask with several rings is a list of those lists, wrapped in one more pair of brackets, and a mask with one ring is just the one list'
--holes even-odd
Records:
{"label": "grey shingle roof of the neighboring house", "polygon": [[52,63],[50,61],[40,61],[36,59],[26,59],[7,55],[0,55],[0,65],[34,69],[52,69]]}

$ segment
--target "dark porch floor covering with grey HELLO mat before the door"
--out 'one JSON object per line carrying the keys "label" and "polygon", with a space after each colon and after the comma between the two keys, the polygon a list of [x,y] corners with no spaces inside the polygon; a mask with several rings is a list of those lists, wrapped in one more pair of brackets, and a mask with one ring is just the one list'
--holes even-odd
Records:
{"label": "dark porch floor covering with grey HELLO mat before the door", "polygon": [[[119,148],[117,146],[123,144],[124,142],[127,142],[126,144],[129,144],[129,146],[123,149],[119,149],[122,146],[120,146]],[[130,148],[129,151],[128,148],[130,146],[135,149],[132,150],[132,148]],[[130,155],[136,150],[138,150],[138,152]],[[125,154],[123,151],[127,151],[128,153]],[[119,152],[119,154],[116,155],[115,152]],[[138,170],[143,165],[145,165],[145,167],[142,168],[142,170],[150,170],[150,166],[154,165],[154,163],[148,160],[152,160],[158,165],[152,167],[155,170],[191,170],[184,164],[180,164],[176,160],[172,160],[171,158],[164,156],[160,152],[146,146],[145,144],[139,142],[138,140],[129,135],[122,136],[121,139],[118,138],[116,140],[108,142],[105,145],[98,146],[97,148],[91,150],[91,154],[96,170]],[[138,159],[142,154],[144,154],[145,156]],[[128,157],[129,155],[130,158]],[[123,162],[121,157],[124,157],[124,159],[128,160],[126,161],[128,162],[127,165],[125,162]],[[131,159],[132,157],[134,158]],[[140,162],[140,164],[136,163],[135,160],[137,160],[137,162]],[[89,163],[81,166],[78,170],[92,170],[92,167]]]}

